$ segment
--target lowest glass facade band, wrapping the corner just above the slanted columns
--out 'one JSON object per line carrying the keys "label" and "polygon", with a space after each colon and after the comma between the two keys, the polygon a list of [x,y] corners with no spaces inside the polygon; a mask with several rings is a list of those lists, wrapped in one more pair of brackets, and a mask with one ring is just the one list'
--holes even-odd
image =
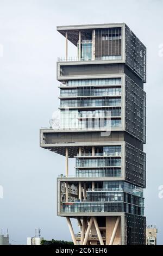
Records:
{"label": "lowest glass facade band, wrapping the corner just above the slanted columns", "polygon": [[[64,184],[64,182],[61,182]],[[62,192],[64,186],[61,185]],[[73,183],[70,185],[69,201],[61,199],[61,212],[114,212],[124,211],[130,214],[143,215],[144,198],[143,189],[126,181],[97,181],[95,188],[91,182],[86,187],[86,198],[79,200],[78,188]],[[62,194],[62,193],[61,193]],[[63,193],[64,194],[64,193]]]}

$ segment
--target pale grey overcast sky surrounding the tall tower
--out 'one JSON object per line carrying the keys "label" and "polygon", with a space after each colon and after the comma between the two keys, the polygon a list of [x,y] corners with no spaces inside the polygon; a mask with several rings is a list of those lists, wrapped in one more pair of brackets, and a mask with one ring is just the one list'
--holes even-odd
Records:
{"label": "pale grey overcast sky surrounding the tall tower", "polygon": [[[163,244],[162,9],[161,0],[0,0],[0,229],[9,229],[11,243],[26,244],[35,228],[45,239],[71,240],[56,212],[56,178],[65,171],[65,159],[39,147],[39,129],[59,105],[56,62],[65,56],[65,40],[56,26],[126,22],[147,47],[145,215]],[[77,56],[71,43],[68,50]]]}

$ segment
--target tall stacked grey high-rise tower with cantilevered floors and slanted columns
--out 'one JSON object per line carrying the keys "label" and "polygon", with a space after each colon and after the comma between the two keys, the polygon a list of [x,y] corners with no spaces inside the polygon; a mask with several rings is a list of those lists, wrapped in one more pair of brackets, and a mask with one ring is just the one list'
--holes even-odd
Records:
{"label": "tall stacked grey high-rise tower with cantilevered floors and slanted columns", "polygon": [[[66,39],[57,62],[60,118],[40,130],[40,146],[65,156],[58,216],[66,217],[74,245],[145,245],[146,47],[125,23],[57,31]],[[68,57],[68,41],[76,58]]]}

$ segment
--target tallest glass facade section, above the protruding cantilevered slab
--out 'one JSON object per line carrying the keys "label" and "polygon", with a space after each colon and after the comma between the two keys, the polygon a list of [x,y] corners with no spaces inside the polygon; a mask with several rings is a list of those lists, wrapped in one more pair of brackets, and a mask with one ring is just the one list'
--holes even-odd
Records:
{"label": "tallest glass facade section, above the protruding cantilevered slab", "polygon": [[[66,82],[66,86],[76,88],[61,88],[60,96],[77,98],[60,99],[60,127],[62,129],[105,129],[122,127],[121,78],[69,80]],[[83,108],[87,107],[90,108],[90,111],[83,110]],[[116,118],[114,119],[114,117]]]}

